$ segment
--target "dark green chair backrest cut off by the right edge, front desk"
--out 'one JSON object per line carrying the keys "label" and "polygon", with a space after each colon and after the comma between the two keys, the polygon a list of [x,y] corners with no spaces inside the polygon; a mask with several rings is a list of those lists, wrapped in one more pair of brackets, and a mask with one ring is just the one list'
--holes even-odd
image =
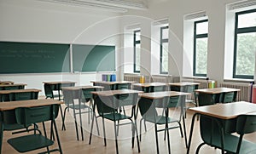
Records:
{"label": "dark green chair backrest cut off by the right edge, front desk", "polygon": [[249,134],[256,131],[256,115],[240,115],[236,120],[236,133]]}

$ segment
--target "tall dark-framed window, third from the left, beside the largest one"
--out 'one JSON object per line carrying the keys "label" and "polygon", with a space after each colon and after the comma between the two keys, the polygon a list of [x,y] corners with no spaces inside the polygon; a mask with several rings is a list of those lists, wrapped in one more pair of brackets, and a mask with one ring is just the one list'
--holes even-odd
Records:
{"label": "tall dark-framed window, third from the left, beside the largest one", "polygon": [[208,20],[195,21],[193,75],[207,77]]}

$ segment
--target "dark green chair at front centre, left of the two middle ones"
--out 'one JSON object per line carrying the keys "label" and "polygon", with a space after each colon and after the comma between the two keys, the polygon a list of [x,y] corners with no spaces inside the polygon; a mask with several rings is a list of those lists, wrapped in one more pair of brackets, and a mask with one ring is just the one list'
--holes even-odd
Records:
{"label": "dark green chair at front centre, left of the two middle ones", "polygon": [[[135,108],[137,106],[137,98],[138,94],[114,94],[111,96],[98,96],[94,95],[95,108],[97,109],[98,117],[102,117],[102,127],[103,127],[103,135],[104,135],[104,145],[107,145],[106,140],[106,130],[105,130],[105,119],[108,119],[109,121],[113,121],[113,128],[114,128],[114,137],[115,137],[115,145],[116,145],[116,153],[119,153],[118,148],[118,127],[126,124],[131,124],[131,130],[132,130],[132,148],[134,147],[134,139],[135,134],[137,135],[137,147],[138,152],[140,152],[140,146],[138,141],[138,134],[137,134],[137,114],[135,111]],[[129,115],[122,114],[119,112],[120,107],[131,107],[131,112]],[[93,117],[94,119],[94,117]],[[118,122],[124,122],[124,121],[131,121],[131,123],[118,123]],[[91,129],[90,129],[90,141],[91,143],[91,137],[92,137],[92,131],[93,131],[93,123],[92,121]]]}

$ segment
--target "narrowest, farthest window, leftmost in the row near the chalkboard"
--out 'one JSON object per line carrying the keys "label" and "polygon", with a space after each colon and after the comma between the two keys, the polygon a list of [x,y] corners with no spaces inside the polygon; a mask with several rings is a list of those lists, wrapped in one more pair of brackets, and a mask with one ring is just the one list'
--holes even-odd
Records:
{"label": "narrowest, farthest window, leftmost in the row near the chalkboard", "polygon": [[141,61],[141,31],[133,31],[133,48],[134,48],[134,72],[140,72]]}

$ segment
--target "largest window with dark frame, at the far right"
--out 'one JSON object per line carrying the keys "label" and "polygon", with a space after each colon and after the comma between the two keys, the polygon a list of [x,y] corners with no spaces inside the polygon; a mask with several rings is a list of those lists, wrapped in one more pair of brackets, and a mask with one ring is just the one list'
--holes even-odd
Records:
{"label": "largest window with dark frame, at the far right", "polygon": [[253,79],[256,51],[256,9],[236,12],[233,78]]}

